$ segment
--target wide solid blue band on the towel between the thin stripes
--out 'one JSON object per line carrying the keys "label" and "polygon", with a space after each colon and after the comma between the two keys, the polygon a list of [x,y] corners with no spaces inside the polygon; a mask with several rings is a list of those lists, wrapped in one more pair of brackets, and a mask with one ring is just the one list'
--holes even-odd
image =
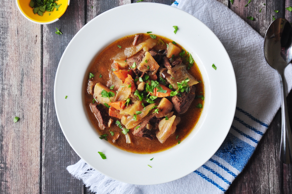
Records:
{"label": "wide solid blue band on the towel between the thin stripes", "polygon": [[224,142],[215,153],[235,169],[242,171],[255,147],[228,133]]}

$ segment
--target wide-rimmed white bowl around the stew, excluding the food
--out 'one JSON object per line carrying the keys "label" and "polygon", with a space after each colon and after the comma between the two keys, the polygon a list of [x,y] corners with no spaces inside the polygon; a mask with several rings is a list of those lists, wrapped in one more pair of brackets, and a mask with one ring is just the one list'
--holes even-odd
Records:
{"label": "wide-rimmed white bowl around the stew, excluding the food", "polygon": [[[173,25],[178,26],[176,34]],[[172,39],[192,54],[204,79],[205,104],[194,130],[179,145],[159,153],[135,154],[99,139],[88,119],[83,86],[88,66],[106,46],[126,35],[148,31]],[[204,164],[225,139],[237,99],[230,58],[215,34],[192,15],[156,3],[119,6],[88,22],[63,53],[54,92],[60,126],[75,152],[102,174],[139,185],[173,181]],[[102,160],[98,151],[107,159]]]}

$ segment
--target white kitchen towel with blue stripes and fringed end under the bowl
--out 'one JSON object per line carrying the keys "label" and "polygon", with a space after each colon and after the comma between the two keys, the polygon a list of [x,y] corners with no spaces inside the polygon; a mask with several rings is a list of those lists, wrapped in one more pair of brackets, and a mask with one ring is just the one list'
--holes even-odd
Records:
{"label": "white kitchen towel with blue stripes and fringed end under the bowl", "polygon": [[[172,6],[204,22],[229,54],[237,82],[237,107],[230,131],[219,150],[203,166],[169,183],[149,186],[121,183],[100,174],[83,160],[68,166],[68,171],[83,180],[93,192],[224,193],[250,159],[281,106],[278,74],[265,61],[264,39],[260,34],[216,0],[177,0]],[[292,87],[291,64],[286,67],[285,76],[286,91],[289,92]]]}

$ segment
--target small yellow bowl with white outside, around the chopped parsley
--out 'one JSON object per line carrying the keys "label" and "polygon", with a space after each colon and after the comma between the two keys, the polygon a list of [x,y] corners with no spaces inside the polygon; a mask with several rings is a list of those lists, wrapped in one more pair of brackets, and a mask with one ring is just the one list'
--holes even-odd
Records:
{"label": "small yellow bowl with white outside, around the chopped parsley", "polygon": [[[57,4],[62,4],[58,11],[54,8],[53,11],[48,12],[45,11],[43,16],[34,14],[32,11],[32,7],[29,6],[30,0],[16,0],[17,7],[22,15],[31,22],[37,24],[51,24],[59,20],[59,18],[65,13],[68,5],[70,4],[70,0],[58,0]],[[50,13],[50,15],[49,15]]]}

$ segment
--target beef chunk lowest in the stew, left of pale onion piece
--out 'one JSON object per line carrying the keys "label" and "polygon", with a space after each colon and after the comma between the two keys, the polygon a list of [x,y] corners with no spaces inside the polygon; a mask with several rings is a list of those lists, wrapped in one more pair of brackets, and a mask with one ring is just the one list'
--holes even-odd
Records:
{"label": "beef chunk lowest in the stew, left of pale onion piece", "polygon": [[[157,132],[159,131],[158,124],[161,120],[162,118],[156,118],[155,114],[147,116],[146,118],[144,118],[144,121],[139,124],[139,126],[141,127],[133,131],[133,135],[153,140],[154,137],[156,137]],[[148,127],[150,129],[147,129],[147,124],[152,125],[152,128]]]}

